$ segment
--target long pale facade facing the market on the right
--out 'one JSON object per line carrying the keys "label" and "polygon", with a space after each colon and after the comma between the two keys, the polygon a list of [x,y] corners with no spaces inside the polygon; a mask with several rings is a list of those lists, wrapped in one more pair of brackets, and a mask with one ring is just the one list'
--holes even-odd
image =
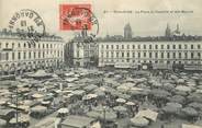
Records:
{"label": "long pale facade facing the market on the right", "polygon": [[[202,65],[202,42],[100,42],[99,67]],[[159,67],[158,67],[159,68]]]}

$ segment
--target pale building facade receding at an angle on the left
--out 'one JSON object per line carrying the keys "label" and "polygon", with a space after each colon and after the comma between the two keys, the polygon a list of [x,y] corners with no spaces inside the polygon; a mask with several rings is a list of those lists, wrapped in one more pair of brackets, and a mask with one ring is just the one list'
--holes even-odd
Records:
{"label": "pale building facade receding at an angle on the left", "polygon": [[64,61],[65,43],[57,36],[45,36],[34,44],[16,34],[0,34],[0,72],[13,73],[59,67]]}

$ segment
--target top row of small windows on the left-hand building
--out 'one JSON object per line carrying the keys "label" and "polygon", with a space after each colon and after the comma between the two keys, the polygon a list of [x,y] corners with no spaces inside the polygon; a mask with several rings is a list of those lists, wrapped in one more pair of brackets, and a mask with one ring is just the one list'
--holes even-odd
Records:
{"label": "top row of small windows on the left-hand building", "polygon": [[9,46],[9,43],[5,43],[4,47],[2,45],[2,43],[0,43],[0,48],[15,48],[18,45],[18,48],[56,48],[56,47],[59,47],[59,45],[57,44],[41,44],[38,43],[37,45],[36,44],[27,44],[27,43],[24,43],[24,44],[21,44],[21,43],[12,43],[11,46]]}

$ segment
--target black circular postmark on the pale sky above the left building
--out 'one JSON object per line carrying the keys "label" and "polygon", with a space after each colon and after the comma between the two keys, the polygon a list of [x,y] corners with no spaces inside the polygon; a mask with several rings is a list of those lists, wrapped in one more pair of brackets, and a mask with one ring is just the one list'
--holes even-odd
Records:
{"label": "black circular postmark on the pale sky above the left building", "polygon": [[9,21],[9,30],[16,33],[22,39],[27,39],[29,44],[35,44],[44,36],[45,24],[38,13],[23,9],[12,15]]}

